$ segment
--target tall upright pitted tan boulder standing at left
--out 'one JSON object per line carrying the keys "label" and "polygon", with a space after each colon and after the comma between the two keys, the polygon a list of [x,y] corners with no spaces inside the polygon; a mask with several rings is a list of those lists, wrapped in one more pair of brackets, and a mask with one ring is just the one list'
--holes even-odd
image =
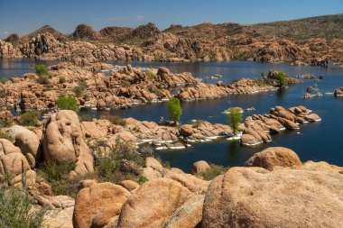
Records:
{"label": "tall upright pitted tan boulder standing at left", "polygon": [[78,114],[63,110],[51,114],[44,139],[45,160],[75,162],[75,172],[84,175],[93,172],[93,157],[83,139]]}

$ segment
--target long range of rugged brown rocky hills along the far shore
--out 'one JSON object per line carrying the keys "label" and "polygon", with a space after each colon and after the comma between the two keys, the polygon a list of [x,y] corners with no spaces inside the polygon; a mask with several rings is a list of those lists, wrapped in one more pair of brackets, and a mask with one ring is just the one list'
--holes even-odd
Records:
{"label": "long range of rugged brown rocky hills along the far shore", "polygon": [[337,14],[255,25],[171,25],[162,32],[153,23],[135,29],[112,26],[99,32],[89,25],[79,24],[69,36],[46,25],[19,40],[13,35],[7,42],[3,41],[0,58],[20,57],[14,53],[21,52],[28,58],[87,58],[93,62],[238,59],[326,67],[329,60],[343,62],[341,22],[342,14]]}

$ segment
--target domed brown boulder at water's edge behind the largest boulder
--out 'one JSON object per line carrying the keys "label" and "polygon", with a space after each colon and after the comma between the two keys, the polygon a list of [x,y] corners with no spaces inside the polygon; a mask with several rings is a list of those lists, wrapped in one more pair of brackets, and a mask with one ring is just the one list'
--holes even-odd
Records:
{"label": "domed brown boulder at water's edge behind the largest boulder", "polygon": [[255,153],[253,157],[246,161],[245,166],[272,170],[275,167],[301,166],[301,160],[293,150],[283,147],[269,147]]}

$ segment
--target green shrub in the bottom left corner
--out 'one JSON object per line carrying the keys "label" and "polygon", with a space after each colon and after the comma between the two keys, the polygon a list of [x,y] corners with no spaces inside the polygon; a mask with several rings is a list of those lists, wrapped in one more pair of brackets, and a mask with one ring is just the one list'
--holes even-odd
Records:
{"label": "green shrub in the bottom left corner", "polygon": [[32,210],[33,198],[26,191],[0,186],[0,227],[39,228],[43,210]]}

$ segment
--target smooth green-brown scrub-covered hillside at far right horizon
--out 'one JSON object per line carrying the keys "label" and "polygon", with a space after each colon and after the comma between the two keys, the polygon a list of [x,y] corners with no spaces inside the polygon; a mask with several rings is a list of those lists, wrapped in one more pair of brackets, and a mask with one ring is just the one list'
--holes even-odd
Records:
{"label": "smooth green-brown scrub-covered hillside at far right horizon", "polygon": [[248,26],[265,37],[275,36],[294,40],[343,39],[343,14],[274,23],[256,23]]}

